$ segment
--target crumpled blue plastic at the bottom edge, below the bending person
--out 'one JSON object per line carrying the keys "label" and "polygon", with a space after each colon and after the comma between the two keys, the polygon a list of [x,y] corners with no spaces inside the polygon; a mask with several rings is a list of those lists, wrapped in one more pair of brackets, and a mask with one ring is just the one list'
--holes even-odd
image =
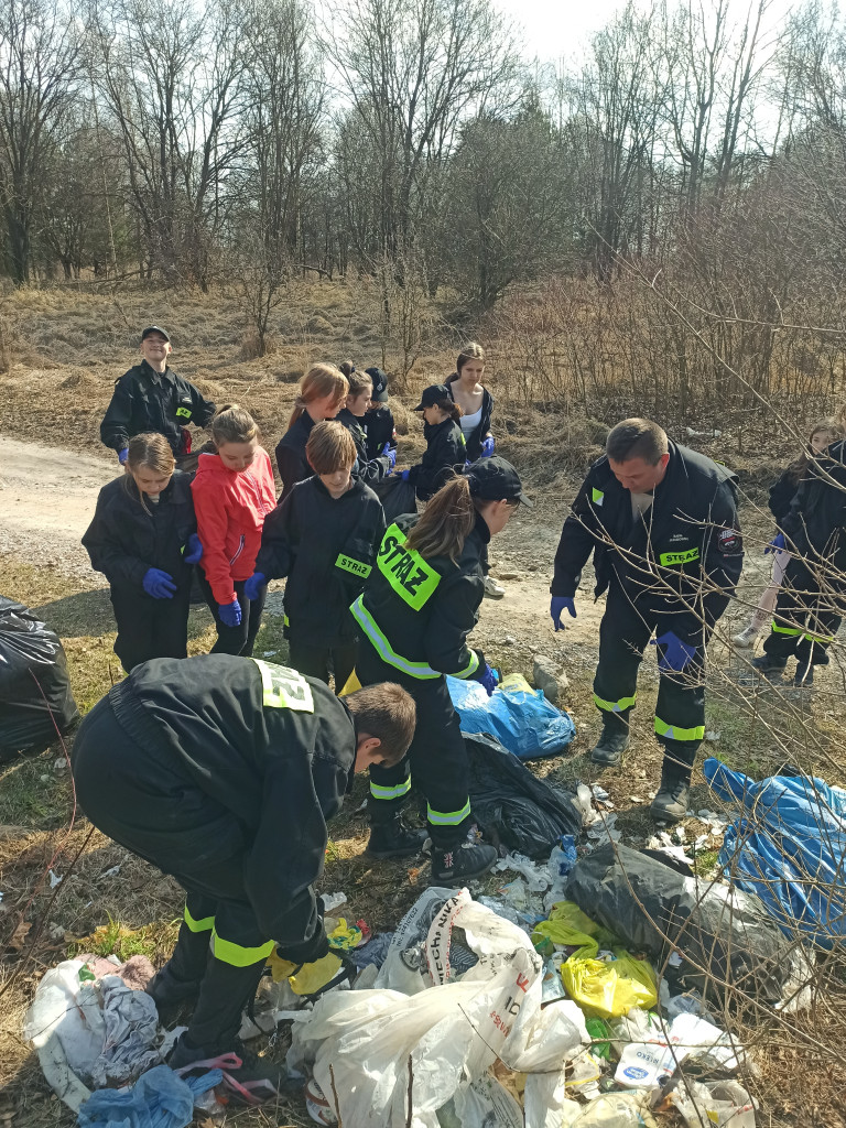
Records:
{"label": "crumpled blue plastic at the bottom edge, below the bending person", "polygon": [[223,1074],[210,1069],[183,1081],[166,1065],[142,1074],[132,1089],[98,1089],[79,1110],[79,1128],[186,1128],[194,1119],[194,1098]]}

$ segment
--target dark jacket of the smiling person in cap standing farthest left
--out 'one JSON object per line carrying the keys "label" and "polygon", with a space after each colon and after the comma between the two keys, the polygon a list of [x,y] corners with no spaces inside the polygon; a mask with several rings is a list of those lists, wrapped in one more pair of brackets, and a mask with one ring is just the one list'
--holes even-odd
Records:
{"label": "dark jacket of the smiling person in cap standing farthest left", "polygon": [[121,451],[134,435],[156,431],[165,435],[174,455],[185,455],[191,442],[183,429],[188,423],[205,426],[213,414],[214,404],[193,384],[169,368],[157,372],[142,360],[115,381],[112,403],[100,423],[100,439]]}

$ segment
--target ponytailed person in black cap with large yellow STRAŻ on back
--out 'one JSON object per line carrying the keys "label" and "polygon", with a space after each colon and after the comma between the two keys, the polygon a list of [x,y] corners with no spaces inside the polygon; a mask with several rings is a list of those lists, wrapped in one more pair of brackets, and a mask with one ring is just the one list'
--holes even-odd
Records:
{"label": "ponytailed person in black cap with large yellow STRA\u017b on back", "polygon": [[493,693],[496,675],[482,652],[467,645],[467,635],[484,593],[482,550],[520,502],[532,504],[510,462],[497,457],[474,462],[438,491],[421,517],[405,513],[388,528],[351,608],[360,627],[361,684],[396,681],[417,705],[405,759],[395,767],[371,766],[368,853],[398,857],[421,848],[425,836],[400,819],[414,776],[428,803],[437,884],[462,884],[496,861],[493,846],[467,840],[467,750],[444,675],[474,679]]}

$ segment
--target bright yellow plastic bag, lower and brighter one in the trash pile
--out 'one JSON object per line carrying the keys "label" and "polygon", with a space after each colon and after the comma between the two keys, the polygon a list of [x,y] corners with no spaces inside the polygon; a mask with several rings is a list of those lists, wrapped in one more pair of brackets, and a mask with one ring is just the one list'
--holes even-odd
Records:
{"label": "bright yellow plastic bag, lower and brighter one in the trash pile", "polygon": [[619,1017],[633,1006],[649,1011],[658,1003],[652,964],[635,959],[625,948],[615,948],[614,955],[606,963],[576,953],[561,966],[567,994],[589,1019]]}

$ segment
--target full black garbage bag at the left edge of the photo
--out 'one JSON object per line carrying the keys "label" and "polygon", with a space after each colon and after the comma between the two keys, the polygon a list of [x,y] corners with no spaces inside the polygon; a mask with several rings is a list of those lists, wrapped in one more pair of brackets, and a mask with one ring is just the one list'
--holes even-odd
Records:
{"label": "full black garbage bag at the left edge of the photo", "polygon": [[59,635],[0,596],[0,761],[46,748],[78,717]]}

